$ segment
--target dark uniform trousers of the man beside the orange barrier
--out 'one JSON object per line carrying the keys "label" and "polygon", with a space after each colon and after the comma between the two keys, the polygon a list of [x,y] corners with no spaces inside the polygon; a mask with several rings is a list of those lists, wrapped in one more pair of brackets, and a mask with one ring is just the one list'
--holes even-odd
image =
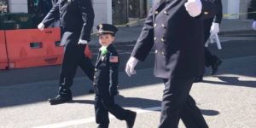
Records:
{"label": "dark uniform trousers of the man beside the orange barrier", "polygon": [[93,80],[94,66],[90,59],[85,57],[86,44],[67,44],[64,46],[64,58],[61,65],[59,94],[72,95],[70,87],[77,67],[81,67],[89,79]]}

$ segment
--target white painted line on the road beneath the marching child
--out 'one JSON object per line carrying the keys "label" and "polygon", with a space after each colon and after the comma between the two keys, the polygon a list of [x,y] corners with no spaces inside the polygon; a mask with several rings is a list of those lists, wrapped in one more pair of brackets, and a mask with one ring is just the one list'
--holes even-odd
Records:
{"label": "white painted line on the road beneath the marching child", "polygon": [[[134,110],[138,113],[150,113],[153,111],[159,111],[161,108],[160,107],[154,107],[154,108],[142,108],[142,109],[137,109]],[[109,119],[113,119],[114,116],[110,114]],[[55,123],[55,124],[50,124],[50,125],[40,125],[40,126],[35,126],[32,128],[61,128],[61,127],[67,127],[71,125],[81,125],[81,124],[88,124],[88,123],[93,123],[95,122],[95,117],[90,117],[87,119],[77,119],[77,120],[71,120],[67,122],[60,122],[60,123]]]}

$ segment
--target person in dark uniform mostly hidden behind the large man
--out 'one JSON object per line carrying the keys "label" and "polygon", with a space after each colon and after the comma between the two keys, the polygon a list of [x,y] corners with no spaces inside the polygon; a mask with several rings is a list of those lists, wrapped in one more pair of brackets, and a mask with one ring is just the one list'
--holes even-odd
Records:
{"label": "person in dark uniform mostly hidden behind the large man", "polygon": [[[222,21],[223,11],[221,0],[215,0],[217,4],[217,14],[214,18],[204,20],[205,26],[205,44],[211,34],[217,34],[219,32],[219,25]],[[216,55],[212,55],[211,51],[205,48],[205,65],[206,67],[212,67],[212,75],[217,73],[218,67],[221,64],[221,60]],[[203,75],[195,79],[195,82],[201,82],[203,80]]]}

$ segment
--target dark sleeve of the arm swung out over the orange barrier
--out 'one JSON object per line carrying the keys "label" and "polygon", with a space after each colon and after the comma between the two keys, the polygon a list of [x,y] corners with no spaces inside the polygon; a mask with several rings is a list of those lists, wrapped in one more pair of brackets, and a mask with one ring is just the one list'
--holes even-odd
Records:
{"label": "dark sleeve of the arm swung out over the orange barrier", "polygon": [[52,9],[50,9],[49,13],[44,17],[44,20],[42,21],[44,26],[48,27],[55,20],[60,19],[59,4],[59,2],[56,3],[56,5]]}

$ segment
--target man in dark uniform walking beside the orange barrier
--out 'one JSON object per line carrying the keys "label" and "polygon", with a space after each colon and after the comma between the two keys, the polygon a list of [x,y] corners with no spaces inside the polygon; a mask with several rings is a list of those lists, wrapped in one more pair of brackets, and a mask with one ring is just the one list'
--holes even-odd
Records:
{"label": "man in dark uniform walking beside the orange barrier", "polygon": [[49,99],[50,104],[59,104],[72,100],[70,87],[77,67],[93,80],[94,66],[84,56],[84,48],[90,41],[90,32],[94,22],[94,10],[90,0],[59,0],[49,11],[38,29],[44,30],[55,19],[61,22],[61,45],[64,45],[64,58],[61,65],[59,94]]}

